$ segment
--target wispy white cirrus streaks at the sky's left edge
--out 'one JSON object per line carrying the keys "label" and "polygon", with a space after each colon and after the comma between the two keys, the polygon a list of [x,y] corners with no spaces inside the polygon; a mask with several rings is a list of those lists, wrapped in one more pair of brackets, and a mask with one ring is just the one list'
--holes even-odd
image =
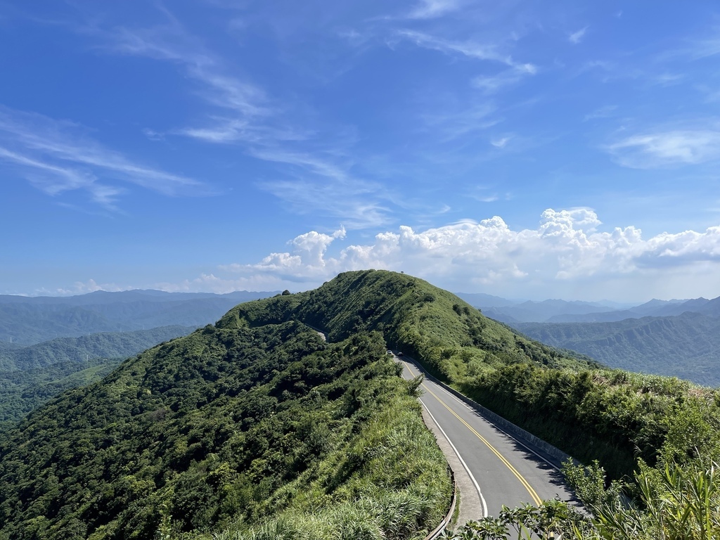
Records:
{"label": "wispy white cirrus streaks at the sky's left edge", "polygon": [[125,192],[122,183],[165,195],[204,189],[195,179],[130,160],[79,125],[7,107],[0,108],[0,161],[47,194],[84,190],[112,209]]}

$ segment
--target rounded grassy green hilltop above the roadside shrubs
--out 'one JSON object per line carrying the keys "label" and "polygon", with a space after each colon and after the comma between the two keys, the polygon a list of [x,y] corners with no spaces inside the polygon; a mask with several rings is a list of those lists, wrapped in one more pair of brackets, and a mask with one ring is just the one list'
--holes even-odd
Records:
{"label": "rounded grassy green hilltop above the roadside shrubs", "polygon": [[420,356],[431,372],[446,380],[515,361],[598,365],[524,338],[422,279],[382,270],[345,272],[314,291],[241,304],[219,325],[289,319],[324,330],[330,341],[360,330],[380,330],[387,343]]}

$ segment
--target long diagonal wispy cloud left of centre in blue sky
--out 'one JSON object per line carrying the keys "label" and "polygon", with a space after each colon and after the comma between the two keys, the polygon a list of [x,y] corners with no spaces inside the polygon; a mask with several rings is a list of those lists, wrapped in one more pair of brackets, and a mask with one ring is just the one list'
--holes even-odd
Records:
{"label": "long diagonal wispy cloud left of centre in blue sky", "polygon": [[[175,63],[212,107],[204,125],[176,127],[168,135],[240,145],[248,156],[287,166],[281,179],[256,185],[293,212],[341,217],[352,228],[387,222],[387,190],[350,174],[351,163],[343,158],[345,149],[336,133],[327,143],[312,128],[293,125],[291,104],[281,104],[247,77],[233,75],[231,63],[205,50],[174,19],[151,29],[106,32],[104,38],[116,53]],[[161,135],[150,132],[153,138]]]}

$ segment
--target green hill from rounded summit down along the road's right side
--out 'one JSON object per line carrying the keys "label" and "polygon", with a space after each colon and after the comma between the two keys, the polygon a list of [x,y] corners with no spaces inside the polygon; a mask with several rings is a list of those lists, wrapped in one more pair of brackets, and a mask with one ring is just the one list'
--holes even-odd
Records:
{"label": "green hill from rounded summit down along the road's right side", "polygon": [[[315,291],[235,307],[219,324],[290,319],[322,328],[330,339],[380,330],[389,346],[466,395],[578,459],[599,459],[613,477],[632,474],[638,457],[654,464],[716,451],[706,433],[720,432],[718,392],[604,369],[518,335],[412,276],[346,272]],[[687,436],[674,426],[685,426]]]}

